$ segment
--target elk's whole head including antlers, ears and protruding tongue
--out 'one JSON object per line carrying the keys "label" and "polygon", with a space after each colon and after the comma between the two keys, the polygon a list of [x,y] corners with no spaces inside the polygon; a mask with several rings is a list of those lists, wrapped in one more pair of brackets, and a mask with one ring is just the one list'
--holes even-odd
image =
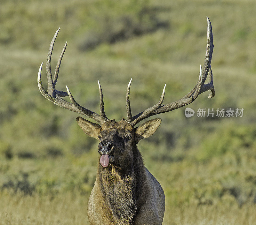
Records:
{"label": "elk's whole head including antlers, ears and protruding tongue", "polygon": [[[143,138],[148,138],[152,134],[155,133],[157,128],[161,123],[161,119],[152,119],[148,120],[144,124],[139,127],[135,127],[143,119],[146,119],[150,116],[154,116],[156,114],[169,112],[174,109],[178,109],[182,106],[188,105],[191,102],[195,101],[197,96],[205,91],[211,91],[208,98],[212,98],[214,96],[214,86],[212,81],[212,69],[211,69],[211,60],[212,60],[212,52],[213,52],[213,38],[212,38],[212,26],[211,22],[207,17],[208,29],[207,29],[207,44],[206,44],[206,54],[203,68],[200,65],[199,79],[196,86],[183,98],[178,101],[174,101],[172,103],[162,105],[164,100],[165,86],[163,93],[160,97],[158,103],[143,112],[140,112],[136,116],[132,116],[131,107],[130,107],[130,86],[132,79],[129,82],[126,92],[126,109],[127,109],[127,119],[122,119],[119,122],[116,122],[114,119],[109,120],[104,111],[104,103],[103,103],[103,94],[100,86],[100,82],[98,80],[99,91],[100,91],[100,115],[80,106],[72,94],[70,93],[68,87],[67,92],[58,91],[55,89],[55,85],[58,79],[58,73],[60,68],[61,59],[67,47],[67,42],[63,48],[62,53],[60,54],[60,58],[58,60],[54,77],[52,79],[51,73],[51,56],[52,49],[57,37],[57,34],[60,28],[56,31],[53,36],[52,42],[50,44],[50,49],[46,62],[46,74],[48,79],[48,89],[45,91],[42,82],[41,82],[41,71],[42,65],[40,66],[38,72],[38,87],[43,94],[43,96],[51,101],[52,103],[65,108],[71,111],[77,112],[84,116],[87,116],[97,123],[92,123],[82,117],[77,117],[76,121],[78,125],[82,128],[84,133],[88,136],[98,139],[100,144],[98,146],[98,152],[100,153],[100,164],[103,167],[107,167],[109,164],[114,165],[116,168],[125,169],[127,165],[129,165],[133,159],[133,150],[136,148],[136,144]],[[209,83],[205,84],[205,80],[207,75],[209,74]],[[69,96],[71,102],[65,101],[62,98],[65,96]]]}

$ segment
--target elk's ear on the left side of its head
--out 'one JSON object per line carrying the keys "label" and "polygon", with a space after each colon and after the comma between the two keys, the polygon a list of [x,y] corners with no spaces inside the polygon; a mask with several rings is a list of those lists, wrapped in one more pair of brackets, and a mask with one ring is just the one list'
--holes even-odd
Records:
{"label": "elk's ear on the left side of its head", "polygon": [[101,126],[99,124],[92,123],[81,116],[76,118],[78,125],[82,128],[84,133],[86,133],[89,137],[98,139]]}

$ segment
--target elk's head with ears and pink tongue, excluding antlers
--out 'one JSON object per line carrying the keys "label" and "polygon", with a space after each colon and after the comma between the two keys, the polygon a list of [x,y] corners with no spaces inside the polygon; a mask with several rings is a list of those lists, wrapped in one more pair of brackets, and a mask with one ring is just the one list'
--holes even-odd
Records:
{"label": "elk's head with ears and pink tongue, excluding antlers", "polygon": [[126,169],[133,162],[133,149],[136,144],[140,139],[154,134],[161,123],[161,119],[152,119],[134,128],[124,119],[119,122],[108,120],[102,126],[80,116],[76,120],[88,136],[100,141],[100,164],[103,167],[112,165],[118,169]]}

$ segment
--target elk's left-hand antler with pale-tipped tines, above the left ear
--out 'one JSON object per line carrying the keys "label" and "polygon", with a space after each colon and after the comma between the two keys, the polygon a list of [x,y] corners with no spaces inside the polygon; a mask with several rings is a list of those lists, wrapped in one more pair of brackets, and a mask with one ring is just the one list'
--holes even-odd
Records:
{"label": "elk's left-hand antler with pale-tipped tines, above the left ear", "polygon": [[[55,85],[56,85],[56,82],[58,79],[58,74],[59,74],[59,69],[60,69],[60,63],[61,63],[62,57],[64,55],[64,52],[66,50],[67,43],[68,43],[68,42],[66,42],[66,44],[60,54],[60,58],[58,60],[58,63],[57,63],[56,69],[55,69],[54,78],[52,80],[51,56],[52,56],[53,45],[54,45],[54,42],[56,40],[59,30],[60,30],[60,28],[56,31],[56,33],[54,34],[54,36],[52,38],[49,53],[47,56],[47,61],[46,61],[46,74],[47,74],[47,81],[48,81],[47,92],[44,90],[44,87],[43,87],[42,81],[41,81],[41,71],[42,71],[43,63],[41,64],[41,66],[39,68],[38,77],[37,77],[37,83],[38,83],[39,90],[47,100],[51,101],[55,105],[58,105],[64,109],[69,109],[71,111],[77,112],[84,116],[88,116],[88,117],[94,119],[95,121],[97,121],[99,124],[102,124],[103,122],[108,120],[108,118],[104,111],[103,94],[102,94],[99,80],[98,80],[98,84],[99,84],[99,90],[100,90],[100,115],[95,112],[90,111],[89,109],[85,109],[84,107],[80,106],[73,98],[73,96],[70,93],[67,86],[66,86],[66,88],[67,88],[68,92],[58,91],[55,89]],[[62,98],[65,96],[69,96],[72,103],[63,100]]]}

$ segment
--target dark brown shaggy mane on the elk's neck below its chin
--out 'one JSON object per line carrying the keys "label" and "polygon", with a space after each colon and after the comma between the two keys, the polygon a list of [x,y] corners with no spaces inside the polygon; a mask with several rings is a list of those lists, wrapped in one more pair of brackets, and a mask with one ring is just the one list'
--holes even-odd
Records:
{"label": "dark brown shaggy mane on the elk's neck below its chin", "polygon": [[134,161],[121,170],[98,167],[98,182],[105,206],[117,224],[130,225],[147,196],[146,172],[141,154],[133,150]]}

